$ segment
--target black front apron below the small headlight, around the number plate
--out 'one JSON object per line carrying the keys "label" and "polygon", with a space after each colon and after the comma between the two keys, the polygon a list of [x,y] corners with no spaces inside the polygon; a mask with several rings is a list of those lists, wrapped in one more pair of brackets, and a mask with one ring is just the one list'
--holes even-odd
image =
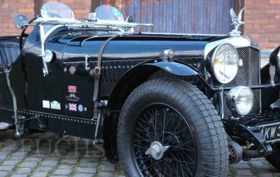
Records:
{"label": "black front apron below the small headlight, around the number plate", "polygon": [[[244,148],[244,160],[265,157],[275,150],[272,148],[273,144],[280,142],[280,136],[279,139],[267,141],[267,134],[260,130],[260,127],[264,125],[280,125],[280,109],[274,109],[265,113],[250,114],[239,119],[224,118],[223,125],[227,134],[234,139],[237,138],[243,142],[246,141],[248,142],[247,145],[249,144],[251,146],[248,149]],[[245,145],[243,144],[242,146]]]}

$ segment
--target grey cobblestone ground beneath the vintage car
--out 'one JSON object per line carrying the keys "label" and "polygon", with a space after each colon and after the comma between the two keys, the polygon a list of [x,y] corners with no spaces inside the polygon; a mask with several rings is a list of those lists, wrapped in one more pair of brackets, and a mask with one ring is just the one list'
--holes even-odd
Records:
{"label": "grey cobblestone ground beneath the vintage car", "polygon": [[[36,133],[13,139],[13,130],[0,135],[0,176],[123,176],[119,164],[109,163],[92,141],[52,133]],[[229,176],[279,176],[265,160],[231,165]]]}

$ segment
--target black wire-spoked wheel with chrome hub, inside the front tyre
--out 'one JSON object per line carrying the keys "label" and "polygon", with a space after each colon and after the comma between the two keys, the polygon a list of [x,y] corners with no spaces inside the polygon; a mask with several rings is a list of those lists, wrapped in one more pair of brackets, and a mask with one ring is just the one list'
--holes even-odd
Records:
{"label": "black wire-spoked wheel with chrome hub, inside the front tyre", "polygon": [[194,176],[195,139],[183,116],[171,106],[151,104],[134,128],[134,161],[144,176]]}

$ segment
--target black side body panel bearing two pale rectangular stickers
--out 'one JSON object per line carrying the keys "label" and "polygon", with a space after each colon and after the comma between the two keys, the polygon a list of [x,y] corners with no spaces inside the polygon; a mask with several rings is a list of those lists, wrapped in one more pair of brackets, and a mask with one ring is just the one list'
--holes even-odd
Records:
{"label": "black side body panel bearing two pale rectangular stickers", "polygon": [[52,61],[47,63],[49,73],[43,73],[41,43],[37,41],[33,47],[24,53],[24,63],[27,73],[27,105],[33,111],[62,114],[64,102],[62,99],[61,51],[63,45],[54,41],[45,43],[45,50],[52,52]]}

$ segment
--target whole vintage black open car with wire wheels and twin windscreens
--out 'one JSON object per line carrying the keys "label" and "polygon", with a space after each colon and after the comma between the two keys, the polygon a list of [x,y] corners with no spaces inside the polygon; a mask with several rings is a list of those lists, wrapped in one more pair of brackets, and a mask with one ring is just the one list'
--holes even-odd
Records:
{"label": "whole vintage black open car with wire wheels and twin windscreens", "polygon": [[151,24],[108,5],[17,15],[22,34],[0,38],[0,128],[92,139],[126,176],[226,176],[255,157],[280,169],[279,49],[260,69],[230,14],[229,35],[135,32]]}

